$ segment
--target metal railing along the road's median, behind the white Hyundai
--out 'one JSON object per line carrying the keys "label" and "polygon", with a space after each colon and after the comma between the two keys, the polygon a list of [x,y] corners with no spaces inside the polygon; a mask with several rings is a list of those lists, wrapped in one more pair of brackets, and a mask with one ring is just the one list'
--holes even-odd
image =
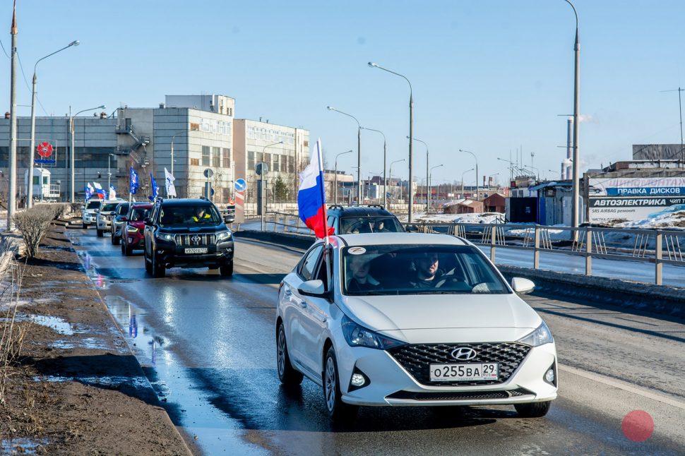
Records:
{"label": "metal railing along the road's median, behind the white Hyundai", "polygon": [[[665,264],[685,266],[685,230],[546,227],[531,224],[403,223],[407,231],[459,236],[490,248],[532,251],[532,267],[540,269],[540,253],[585,258],[585,275],[592,275],[592,258],[631,260],[654,265],[654,283],[662,284]],[[313,234],[297,214],[268,212],[266,231]]]}

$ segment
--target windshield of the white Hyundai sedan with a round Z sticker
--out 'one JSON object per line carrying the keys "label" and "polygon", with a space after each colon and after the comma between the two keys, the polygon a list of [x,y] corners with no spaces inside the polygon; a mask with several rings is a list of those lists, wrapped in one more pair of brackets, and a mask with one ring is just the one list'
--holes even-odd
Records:
{"label": "windshield of the white Hyundai sedan with a round Z sticker", "polygon": [[343,294],[505,294],[472,246],[388,245],[342,251]]}

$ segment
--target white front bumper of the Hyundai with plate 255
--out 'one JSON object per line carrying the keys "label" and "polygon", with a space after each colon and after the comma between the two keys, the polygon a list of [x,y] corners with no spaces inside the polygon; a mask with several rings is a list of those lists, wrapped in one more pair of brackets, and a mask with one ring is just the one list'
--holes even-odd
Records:
{"label": "white front bumper of the Hyundai with plate 255", "polygon": [[[504,383],[463,386],[419,383],[400,362],[383,350],[350,347],[347,343],[335,347],[335,350],[342,401],[347,404],[425,407],[520,404],[556,399],[556,386],[544,380],[549,368],[554,368],[554,383],[558,380],[554,344],[532,347]],[[350,380],[352,373],[359,371],[367,377],[368,383],[354,389],[350,387]]]}

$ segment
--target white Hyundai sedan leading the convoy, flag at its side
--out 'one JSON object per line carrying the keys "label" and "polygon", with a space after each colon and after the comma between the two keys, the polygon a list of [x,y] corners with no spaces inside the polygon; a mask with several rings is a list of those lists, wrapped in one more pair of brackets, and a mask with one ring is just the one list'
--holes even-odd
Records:
{"label": "white Hyundai sedan leading the convoy, flag at its side", "polygon": [[280,284],[278,376],[323,387],[333,421],[358,406],[513,404],[544,416],[556,347],[540,316],[475,246],[455,236],[376,233],[314,244]]}

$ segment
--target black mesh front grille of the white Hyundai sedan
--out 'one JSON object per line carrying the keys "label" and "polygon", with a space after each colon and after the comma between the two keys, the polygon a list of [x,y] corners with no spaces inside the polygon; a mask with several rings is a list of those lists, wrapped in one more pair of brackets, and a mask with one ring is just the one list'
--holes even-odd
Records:
{"label": "black mesh front grille of the white Hyundai sedan", "polygon": [[[451,356],[454,349],[468,347],[477,353],[474,359],[458,361]],[[388,353],[400,363],[412,376],[423,385],[433,386],[466,386],[496,385],[504,383],[516,371],[521,361],[530,351],[530,347],[517,342],[487,344],[415,344],[389,349]],[[498,363],[499,379],[483,381],[433,382],[429,372],[430,364],[469,364]]]}

